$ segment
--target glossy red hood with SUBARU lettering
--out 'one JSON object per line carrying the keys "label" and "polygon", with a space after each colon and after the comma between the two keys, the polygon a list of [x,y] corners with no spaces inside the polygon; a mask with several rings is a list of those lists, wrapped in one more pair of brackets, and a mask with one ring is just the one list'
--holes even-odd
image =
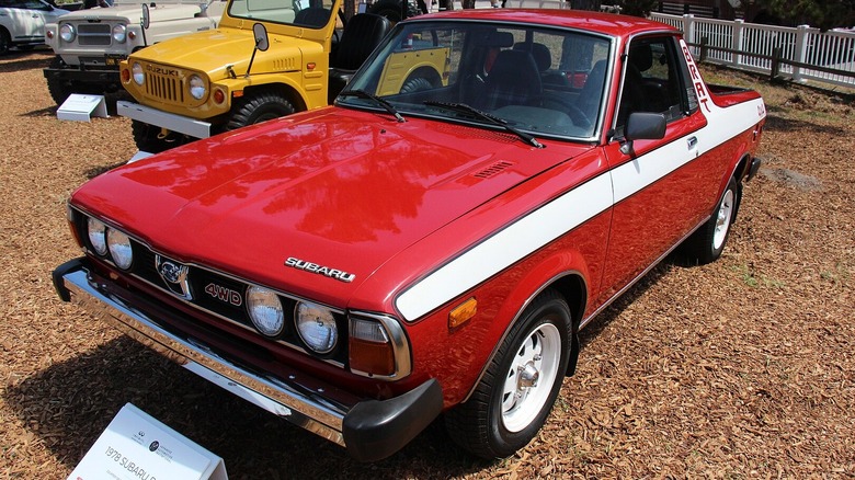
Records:
{"label": "glossy red hood with SUBARU lettering", "polygon": [[345,307],[399,252],[590,148],[535,149],[502,132],[326,107],[115,169],[72,204],[175,260]]}

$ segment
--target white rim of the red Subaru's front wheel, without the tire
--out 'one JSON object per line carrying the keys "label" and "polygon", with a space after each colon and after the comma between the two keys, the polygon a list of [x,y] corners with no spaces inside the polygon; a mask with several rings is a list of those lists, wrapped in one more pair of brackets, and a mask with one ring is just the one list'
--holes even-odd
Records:
{"label": "white rim of the red Subaru's front wheel, without the tire", "polygon": [[528,426],[543,410],[558,375],[561,335],[544,323],[523,341],[502,389],[502,423],[509,432]]}

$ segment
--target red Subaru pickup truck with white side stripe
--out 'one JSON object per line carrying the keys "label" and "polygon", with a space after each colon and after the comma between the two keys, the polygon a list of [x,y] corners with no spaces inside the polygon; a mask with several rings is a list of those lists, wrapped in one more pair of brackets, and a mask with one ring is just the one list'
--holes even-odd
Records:
{"label": "red Subaru pickup truck with white side stripe", "polygon": [[[403,57],[437,55],[443,78],[402,87]],[[333,106],[81,186],[83,255],[54,282],[360,460],[441,414],[504,457],[546,421],[580,329],[670,253],[721,254],[765,116],[661,23],[423,15]]]}

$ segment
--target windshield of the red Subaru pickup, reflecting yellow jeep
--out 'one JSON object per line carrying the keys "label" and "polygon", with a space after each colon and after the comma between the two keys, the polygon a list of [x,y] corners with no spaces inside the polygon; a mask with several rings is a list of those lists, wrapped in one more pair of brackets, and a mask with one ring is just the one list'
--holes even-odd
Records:
{"label": "windshield of the red Subaru pickup, reflecting yellow jeep", "polygon": [[[485,22],[401,23],[347,84],[401,114],[593,138],[611,39],[577,31]],[[376,108],[365,95],[339,104]],[[474,110],[476,112],[474,112]]]}

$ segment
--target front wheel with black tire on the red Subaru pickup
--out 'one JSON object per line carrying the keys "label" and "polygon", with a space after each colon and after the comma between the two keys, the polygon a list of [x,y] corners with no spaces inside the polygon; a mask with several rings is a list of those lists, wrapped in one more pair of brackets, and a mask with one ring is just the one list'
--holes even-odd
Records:
{"label": "front wheel with black tire on the red Subaru pickup", "polygon": [[504,458],[527,445],[561,388],[571,332],[567,302],[545,290],[513,325],[469,400],[446,412],[454,442],[483,458]]}

